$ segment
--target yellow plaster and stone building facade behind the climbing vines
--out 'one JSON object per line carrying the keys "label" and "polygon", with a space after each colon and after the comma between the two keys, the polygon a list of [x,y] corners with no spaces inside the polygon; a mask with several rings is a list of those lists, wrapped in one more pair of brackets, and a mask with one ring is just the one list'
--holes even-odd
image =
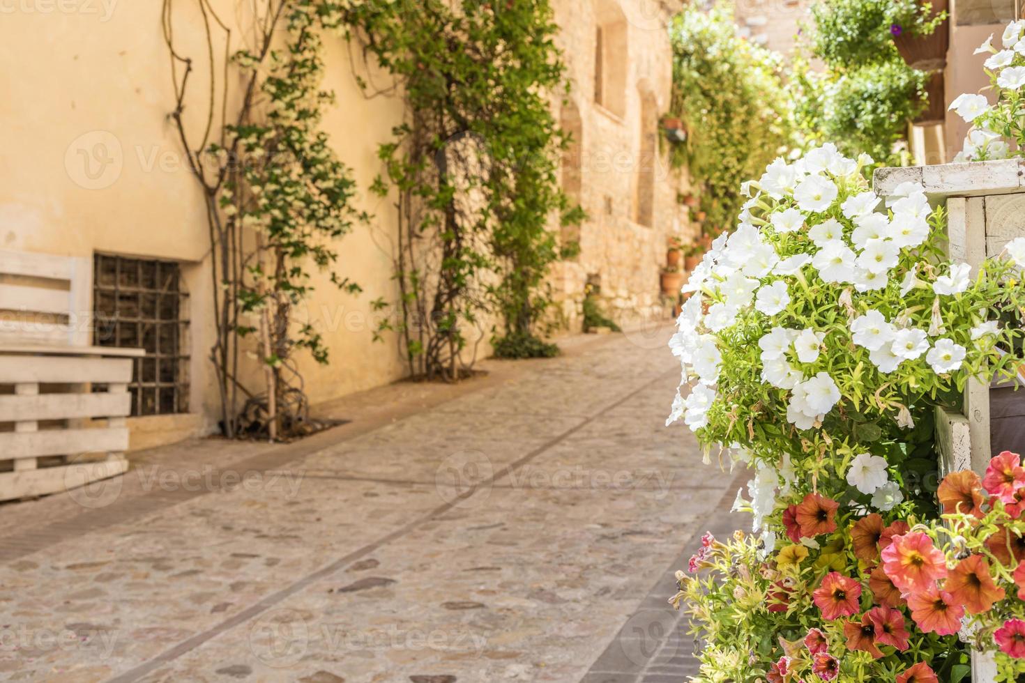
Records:
{"label": "yellow plaster and stone building facade behind the climbing vines", "polygon": [[[235,36],[246,35],[247,3],[211,2],[219,16],[238,22]],[[578,233],[566,236],[579,240],[579,256],[552,273],[564,301],[562,327],[580,329],[588,281],[601,285],[607,312],[620,319],[661,314],[666,239],[686,230],[675,202],[681,181],[658,152],[671,72],[665,27],[674,7],[659,0],[554,4],[574,83],[568,101],[552,100],[576,140],[562,182],[589,214]],[[35,55],[0,77],[6,95],[0,101],[0,249],[86,258],[102,269],[93,273],[97,283],[124,280],[117,296],[149,297],[139,282],[156,272],[173,271],[179,288],[178,345],[167,381],[176,383],[180,400],[165,405],[158,399],[129,419],[133,449],[209,433],[219,407],[209,360],[214,326],[205,204],[168,119],[174,92],[161,5],[16,3],[0,22],[0,41],[11,54]],[[195,5],[175,3],[175,36],[182,52],[203,57],[204,19]],[[335,93],[336,104],[325,112],[323,128],[354,171],[358,208],[374,218],[339,243],[338,267],[363,293],[338,292],[327,273],[317,274],[316,295],[300,311],[335,359],[327,367],[300,364],[314,403],[406,373],[397,340],[374,341],[379,313],[370,302],[398,298],[391,253],[398,226],[393,199],[368,191],[381,171],[377,145],[402,121],[403,102],[365,96],[357,77],[376,84],[387,77],[354,63],[359,60],[340,36],[326,39],[325,50],[323,86]],[[192,80],[194,92],[209,87],[204,69]],[[201,127],[205,110],[194,104],[186,116]],[[93,307],[98,302],[97,294]],[[144,316],[125,324],[140,326],[132,343],[147,345],[148,326],[164,323]],[[488,336],[479,355],[488,353]]]}

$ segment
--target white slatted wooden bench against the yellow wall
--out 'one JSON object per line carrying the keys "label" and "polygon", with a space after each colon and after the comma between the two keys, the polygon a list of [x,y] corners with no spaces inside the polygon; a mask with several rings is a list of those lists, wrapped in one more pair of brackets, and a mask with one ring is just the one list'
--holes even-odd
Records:
{"label": "white slatted wooden bench against the yellow wall", "polygon": [[0,251],[0,501],[122,474],[132,358],[92,346],[88,258]]}

